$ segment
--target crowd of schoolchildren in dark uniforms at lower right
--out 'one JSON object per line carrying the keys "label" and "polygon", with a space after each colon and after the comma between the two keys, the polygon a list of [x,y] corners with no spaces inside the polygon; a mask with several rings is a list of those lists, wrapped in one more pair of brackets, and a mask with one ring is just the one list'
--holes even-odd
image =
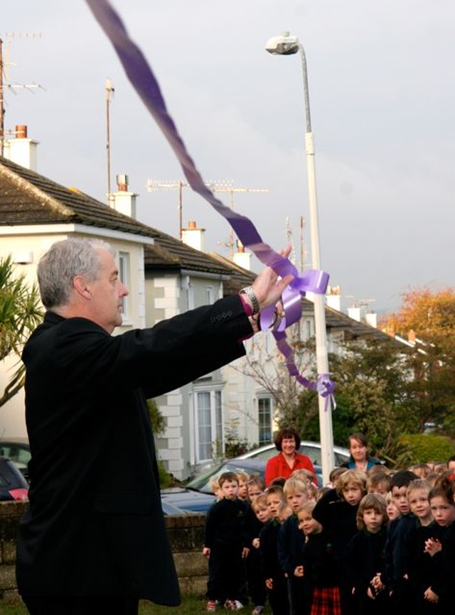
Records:
{"label": "crowd of schoolchildren in dark uniforms at lower right", "polygon": [[265,489],[226,472],[205,521],[207,611],[446,615],[455,570],[450,471],[336,468],[317,489],[297,470]]}

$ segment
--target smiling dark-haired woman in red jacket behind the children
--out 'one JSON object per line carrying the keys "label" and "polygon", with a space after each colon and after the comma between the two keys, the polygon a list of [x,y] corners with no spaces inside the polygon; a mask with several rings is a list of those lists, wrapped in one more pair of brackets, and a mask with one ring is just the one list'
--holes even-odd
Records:
{"label": "smiling dark-haired woman in red jacket behind the children", "polygon": [[313,472],[314,481],[316,482],[316,473],[314,472],[311,459],[306,455],[301,455],[296,452],[300,446],[300,436],[293,428],[282,428],[274,435],[274,442],[278,455],[271,457],[265,467],[265,482],[267,486],[273,479],[283,477],[289,479],[292,472],[296,469],[306,469]]}

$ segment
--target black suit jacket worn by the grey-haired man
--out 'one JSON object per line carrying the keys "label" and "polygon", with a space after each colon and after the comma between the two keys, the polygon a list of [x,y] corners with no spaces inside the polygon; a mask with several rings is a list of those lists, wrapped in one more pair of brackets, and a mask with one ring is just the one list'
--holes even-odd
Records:
{"label": "black suit jacket worn by the grey-haired man", "polygon": [[23,350],[32,457],[22,595],[178,604],[146,399],[241,357],[251,333],[237,295],[118,336],[45,315]]}

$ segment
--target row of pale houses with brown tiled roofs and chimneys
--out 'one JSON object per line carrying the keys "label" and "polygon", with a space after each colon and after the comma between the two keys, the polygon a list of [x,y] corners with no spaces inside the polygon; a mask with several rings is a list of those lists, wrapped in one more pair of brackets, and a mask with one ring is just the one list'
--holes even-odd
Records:
{"label": "row of pale houses with brown tiled roofs and chimneys", "polygon": [[[184,229],[184,238],[192,244],[188,246],[138,222],[137,195],[128,190],[126,176],[118,176],[118,190],[109,207],[36,173],[36,141],[27,138],[26,130],[7,142],[6,153],[20,164],[0,158],[0,257],[11,254],[18,271],[33,283],[36,264],[55,241],[68,236],[105,239],[117,251],[119,274],[130,291],[124,301],[124,322],[116,333],[151,327],[238,292],[254,280],[248,268],[250,255],[242,249],[234,263],[204,254],[203,229],[196,223]],[[310,298],[302,305],[301,321],[289,334],[305,340],[314,335],[314,310]],[[326,321],[329,352],[338,352],[346,337],[387,337],[331,307],[326,307]],[[229,434],[250,445],[270,442],[277,424],[276,408],[267,386],[252,377],[255,365],[271,373],[282,368],[269,332],[247,342],[247,359],[238,359],[156,399],[166,422],[164,432],[156,436],[157,450],[177,478],[222,456]],[[10,368],[11,361],[0,370],[0,386],[5,385]],[[25,431],[21,392],[0,409],[0,433],[17,436]]]}

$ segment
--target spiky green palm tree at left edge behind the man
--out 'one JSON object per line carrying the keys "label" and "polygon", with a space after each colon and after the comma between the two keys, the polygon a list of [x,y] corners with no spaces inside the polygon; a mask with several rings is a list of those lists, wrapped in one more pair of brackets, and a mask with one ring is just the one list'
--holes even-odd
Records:
{"label": "spiky green palm tree at left edge behind the man", "polygon": [[16,276],[11,256],[0,258],[0,361],[15,354],[17,369],[0,396],[0,406],[23,386],[25,367],[21,361],[23,344],[43,320],[36,284],[29,286],[25,276]]}

